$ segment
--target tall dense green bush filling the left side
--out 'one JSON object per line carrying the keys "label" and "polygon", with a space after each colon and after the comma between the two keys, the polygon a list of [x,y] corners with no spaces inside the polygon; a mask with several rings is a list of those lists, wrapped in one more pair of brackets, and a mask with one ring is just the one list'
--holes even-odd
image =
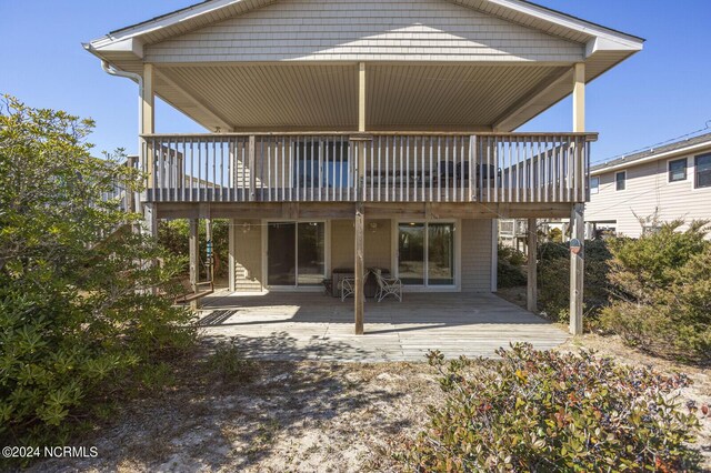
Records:
{"label": "tall dense green bush filling the left side", "polygon": [[90,121],[3,105],[0,444],[67,444],[100,404],[193,345],[192,314],[153,292],[170,291],[176,261],[102,198],[116,182],[134,190],[136,171],[89,154]]}

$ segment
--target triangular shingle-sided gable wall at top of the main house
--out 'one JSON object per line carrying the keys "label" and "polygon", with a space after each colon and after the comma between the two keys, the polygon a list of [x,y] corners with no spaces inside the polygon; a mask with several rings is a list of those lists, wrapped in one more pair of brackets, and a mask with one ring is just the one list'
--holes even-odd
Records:
{"label": "triangular shingle-sided gable wall at top of the main house", "polygon": [[147,46],[144,60],[573,62],[583,50],[442,0],[294,0]]}

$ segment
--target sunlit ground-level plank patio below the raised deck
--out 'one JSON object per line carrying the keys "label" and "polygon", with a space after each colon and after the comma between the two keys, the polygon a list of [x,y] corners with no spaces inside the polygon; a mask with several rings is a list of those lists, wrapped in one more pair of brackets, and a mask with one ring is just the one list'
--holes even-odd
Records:
{"label": "sunlit ground-level plank patio below the raised deck", "polygon": [[238,338],[248,356],[341,362],[493,356],[499,346],[538,349],[568,334],[494,294],[407,293],[403,302],[365,302],[365,334],[353,334],[353,300],[320,293],[222,291],[204,299],[200,325],[209,340]]}

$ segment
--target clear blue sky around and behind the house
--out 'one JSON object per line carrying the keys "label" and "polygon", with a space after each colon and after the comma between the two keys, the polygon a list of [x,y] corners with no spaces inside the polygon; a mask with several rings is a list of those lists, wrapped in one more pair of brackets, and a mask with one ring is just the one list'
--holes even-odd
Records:
{"label": "clear blue sky around and behind the house", "polygon": [[[0,93],[93,118],[90,141],[97,154],[119,147],[136,152],[137,85],[106,74],[81,42],[196,2],[0,0]],[[711,1],[538,3],[648,40],[644,51],[588,87],[587,127],[600,132],[593,161],[702,129],[711,120]],[[522,130],[570,130],[571,113],[564,100]],[[157,105],[157,132],[188,131],[203,130],[170,105]]]}

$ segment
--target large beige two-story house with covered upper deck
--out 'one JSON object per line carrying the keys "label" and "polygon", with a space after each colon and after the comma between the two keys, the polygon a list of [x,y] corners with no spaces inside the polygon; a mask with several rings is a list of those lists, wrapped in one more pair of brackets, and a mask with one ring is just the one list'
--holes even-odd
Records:
{"label": "large beige two-story house with covered upper deck", "polygon": [[[491,292],[498,218],[581,231],[584,88],[642,43],[521,0],[212,0],[84,47],[141,83],[149,230],[231,219],[232,289]],[[573,133],[512,132],[570,94]],[[210,133],[156,134],[157,95]]]}

